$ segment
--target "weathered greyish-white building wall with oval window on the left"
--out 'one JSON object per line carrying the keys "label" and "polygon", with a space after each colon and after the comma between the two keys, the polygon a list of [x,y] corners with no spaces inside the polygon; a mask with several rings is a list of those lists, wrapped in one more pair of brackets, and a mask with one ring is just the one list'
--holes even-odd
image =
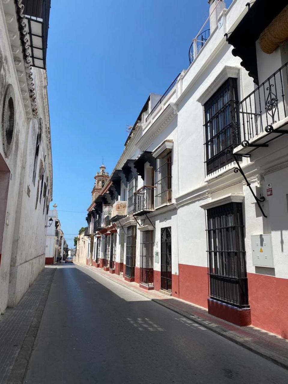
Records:
{"label": "weathered greyish-white building wall with oval window on the left", "polygon": [[[43,269],[52,199],[47,34],[37,61],[25,4],[24,10],[20,0],[0,2],[0,312],[16,305]],[[49,12],[45,33],[48,19]]]}

